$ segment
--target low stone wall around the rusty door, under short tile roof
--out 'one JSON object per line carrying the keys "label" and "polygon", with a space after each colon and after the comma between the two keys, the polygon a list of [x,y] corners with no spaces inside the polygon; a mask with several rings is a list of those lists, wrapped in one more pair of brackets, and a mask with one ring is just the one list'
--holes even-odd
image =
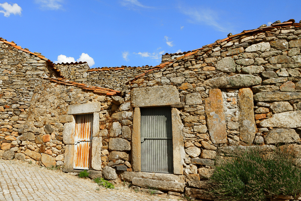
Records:
{"label": "low stone wall around the rusty door, under short tile roof", "polygon": [[[74,123],[75,125],[75,116],[68,115],[68,106],[99,103],[101,105],[100,111],[97,112],[99,118],[94,117],[94,119],[99,119],[99,125],[93,126],[93,130],[99,130],[99,132],[93,132],[92,141],[92,147],[98,147],[94,150],[98,155],[96,155],[97,158],[94,157],[92,150],[92,162],[101,162],[99,168],[93,168],[93,165],[92,168],[101,170],[106,165],[114,168],[116,165],[123,165],[122,168],[130,168],[128,152],[131,149],[129,146],[131,121],[128,119],[132,119],[132,113],[128,111],[130,110],[129,102],[123,102],[124,99],[119,96],[112,98],[99,96],[74,86],[58,85],[42,80],[33,94],[28,117],[23,127],[24,133],[20,136],[20,151],[18,152],[24,153],[23,156],[27,156],[26,158],[30,157],[39,161],[40,165],[64,165],[65,168],[72,169],[73,165],[70,167],[66,164],[66,160],[70,162],[70,159],[66,159],[65,151],[68,145],[74,147],[72,133],[68,134],[68,129],[71,129],[68,124]],[[83,108],[83,110],[90,113],[88,108]],[[73,163],[73,155],[71,157],[71,163]]]}

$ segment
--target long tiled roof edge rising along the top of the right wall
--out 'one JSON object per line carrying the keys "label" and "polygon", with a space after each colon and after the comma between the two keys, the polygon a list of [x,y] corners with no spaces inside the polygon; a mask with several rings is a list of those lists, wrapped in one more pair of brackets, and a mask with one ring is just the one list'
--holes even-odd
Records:
{"label": "long tiled roof edge rising along the top of the right wall", "polygon": [[[147,73],[151,72],[151,71],[154,71],[154,70],[160,70],[162,68],[164,68],[166,65],[170,64],[170,63],[173,63],[174,61],[176,60],[180,60],[182,58],[185,58],[187,56],[190,56],[190,55],[194,55],[196,54],[197,52],[199,52],[200,50],[203,50],[205,48],[208,48],[208,47],[213,47],[215,46],[216,44],[219,44],[221,42],[224,42],[224,41],[231,41],[231,40],[234,40],[234,39],[237,39],[238,36],[241,36],[241,35],[244,35],[244,34],[250,34],[250,33],[255,33],[255,32],[265,32],[265,31],[269,31],[271,30],[271,28],[276,28],[276,27],[290,27],[290,26],[294,26],[294,27],[301,27],[301,24],[300,23],[294,23],[293,21],[295,20],[288,20],[287,22],[283,22],[283,23],[275,23],[275,24],[271,24],[271,26],[265,26],[265,27],[259,27],[257,29],[253,29],[253,30],[244,30],[243,32],[241,33],[238,33],[238,34],[235,34],[235,35],[232,35],[232,36],[228,36],[227,38],[224,38],[222,40],[218,40],[214,43],[211,43],[209,45],[205,45],[201,48],[198,48],[198,49],[194,49],[194,50],[191,50],[191,51],[188,51],[188,52],[179,52],[179,53],[174,53],[174,54],[168,54],[166,53],[165,55],[182,55],[182,56],[179,56],[175,59],[172,59],[172,60],[169,60],[169,61],[166,61],[166,62],[163,62],[161,63],[160,65],[158,66],[155,66],[154,68],[150,69],[150,70],[147,70],[145,71],[145,73],[142,73],[140,75],[137,75],[135,78],[133,78],[132,80],[129,80],[126,84],[129,84],[129,82],[132,82],[132,81],[135,81],[135,80],[138,80],[140,77],[143,77],[144,75],[146,75]],[[209,52],[210,50],[208,50]],[[183,55],[185,54],[185,55]]]}

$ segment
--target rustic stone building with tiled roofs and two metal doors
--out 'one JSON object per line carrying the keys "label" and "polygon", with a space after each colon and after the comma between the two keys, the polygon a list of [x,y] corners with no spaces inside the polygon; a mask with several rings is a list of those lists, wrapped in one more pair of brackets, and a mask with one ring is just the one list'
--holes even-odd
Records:
{"label": "rustic stone building with tiled roofs and two metal doors", "polygon": [[53,64],[0,38],[3,157],[88,169],[210,200],[217,153],[294,144],[301,158],[301,24],[243,31],[159,65]]}

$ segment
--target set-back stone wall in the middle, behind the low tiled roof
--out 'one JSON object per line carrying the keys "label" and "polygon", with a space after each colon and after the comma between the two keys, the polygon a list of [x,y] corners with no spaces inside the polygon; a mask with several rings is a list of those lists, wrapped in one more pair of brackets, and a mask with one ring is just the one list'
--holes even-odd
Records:
{"label": "set-back stone wall in the middle, behind the low tiled roof", "polygon": [[55,64],[62,76],[66,79],[75,82],[81,82],[93,86],[99,86],[117,91],[122,91],[123,94],[128,90],[126,82],[135,76],[144,73],[145,70],[151,68],[144,67],[127,67],[120,68],[92,68],[90,69],[86,62],[71,63],[71,64]]}

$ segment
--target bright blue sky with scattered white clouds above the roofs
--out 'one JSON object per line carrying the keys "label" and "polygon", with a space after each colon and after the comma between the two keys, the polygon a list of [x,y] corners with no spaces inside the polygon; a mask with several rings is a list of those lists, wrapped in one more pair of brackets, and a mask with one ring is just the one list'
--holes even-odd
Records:
{"label": "bright blue sky with scattered white clouds above the roofs", "polygon": [[301,1],[0,0],[0,37],[53,62],[158,65],[228,33],[295,19]]}

